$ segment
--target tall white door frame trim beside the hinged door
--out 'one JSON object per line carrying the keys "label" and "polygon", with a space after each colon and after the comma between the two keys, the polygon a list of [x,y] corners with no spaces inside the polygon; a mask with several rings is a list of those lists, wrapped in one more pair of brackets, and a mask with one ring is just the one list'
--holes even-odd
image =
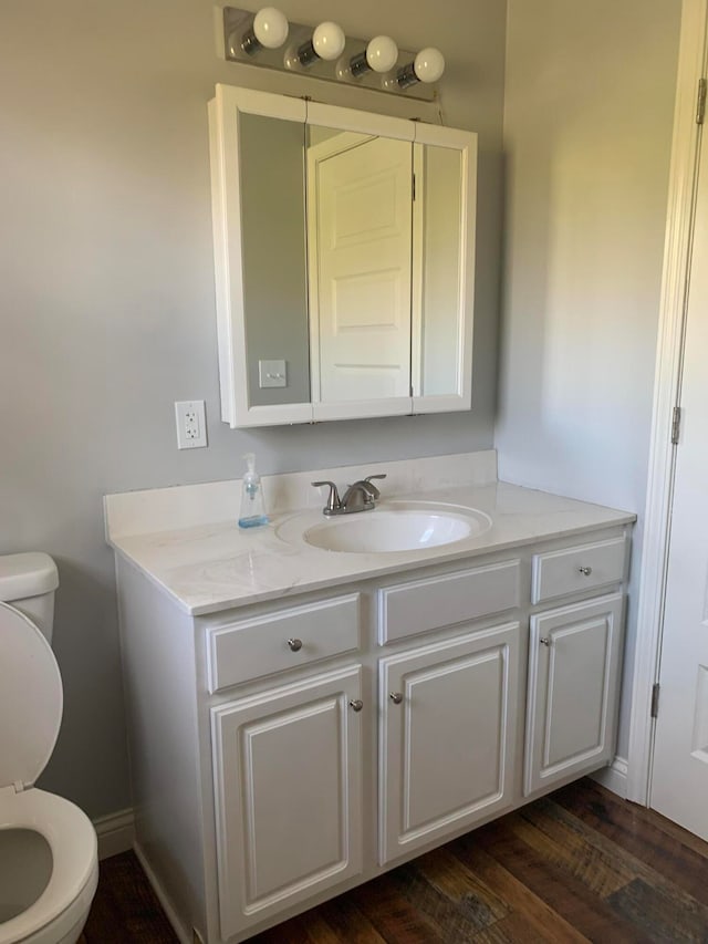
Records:
{"label": "tall white door frame trim beside the hinged door", "polygon": [[706,76],[707,27],[708,0],[683,0],[627,758],[627,799],[644,806],[649,802],[655,729],[650,706],[664,627],[676,459],[671,424],[680,394],[702,131],[696,102],[698,82]]}

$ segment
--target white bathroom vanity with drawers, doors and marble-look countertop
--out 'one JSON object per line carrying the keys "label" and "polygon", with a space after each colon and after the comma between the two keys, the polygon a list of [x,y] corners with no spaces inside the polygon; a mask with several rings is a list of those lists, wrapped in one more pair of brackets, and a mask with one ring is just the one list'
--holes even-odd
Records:
{"label": "white bathroom vanity with drawers, doors and marble-look countertop", "polygon": [[[399,497],[405,466],[350,471]],[[136,849],[181,941],[243,941],[613,759],[634,516],[439,477],[413,499],[489,523],[350,553],[308,542],[317,507],[239,532],[238,483],[107,497]]]}

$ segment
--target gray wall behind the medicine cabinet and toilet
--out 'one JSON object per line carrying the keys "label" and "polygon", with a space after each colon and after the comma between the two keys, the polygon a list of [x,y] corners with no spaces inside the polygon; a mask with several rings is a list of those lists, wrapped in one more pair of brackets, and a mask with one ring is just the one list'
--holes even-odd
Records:
{"label": "gray wall behind the medicine cabinet and toilet", "polygon": [[[215,82],[437,120],[433,105],[227,64],[207,0],[6,0],[0,30],[0,552],[55,556],[64,724],[42,785],[128,805],[113,561],[101,497],[487,448],[501,227],[504,4],[288,0],[291,19],[439,45],[446,123],[480,134],[471,414],[230,432],[218,416],[206,104]],[[173,402],[205,398],[178,453]]]}

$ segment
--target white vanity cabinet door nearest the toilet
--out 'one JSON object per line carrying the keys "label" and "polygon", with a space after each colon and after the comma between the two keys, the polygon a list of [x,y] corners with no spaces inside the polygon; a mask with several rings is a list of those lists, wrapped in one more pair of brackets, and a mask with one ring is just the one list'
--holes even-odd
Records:
{"label": "white vanity cabinet door nearest the toilet", "polygon": [[223,938],[361,872],[360,697],[357,665],[212,708]]}

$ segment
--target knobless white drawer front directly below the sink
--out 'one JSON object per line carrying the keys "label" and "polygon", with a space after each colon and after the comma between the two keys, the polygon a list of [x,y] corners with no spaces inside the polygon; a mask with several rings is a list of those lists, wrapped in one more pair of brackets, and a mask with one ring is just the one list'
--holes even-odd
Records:
{"label": "knobless white drawer front directly below the sink", "polygon": [[385,587],[378,591],[378,644],[519,605],[518,560]]}

